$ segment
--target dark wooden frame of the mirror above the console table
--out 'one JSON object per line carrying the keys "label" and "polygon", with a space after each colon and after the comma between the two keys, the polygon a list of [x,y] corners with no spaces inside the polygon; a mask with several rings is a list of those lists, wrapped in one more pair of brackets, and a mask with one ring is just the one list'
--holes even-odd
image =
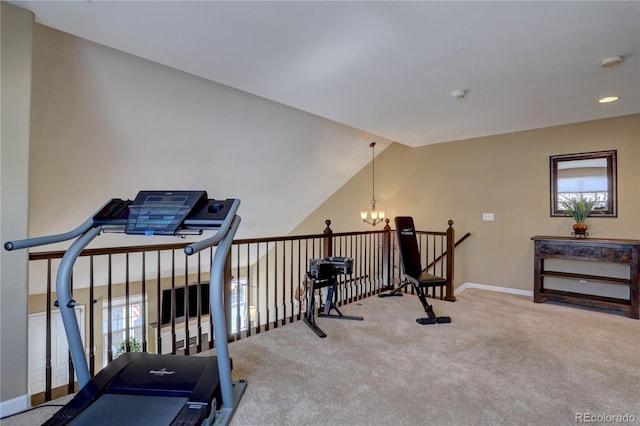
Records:
{"label": "dark wooden frame of the mirror above the console table", "polygon": [[607,209],[591,213],[590,217],[618,217],[618,185],[617,185],[617,151],[596,151],[580,154],[552,155],[550,160],[551,176],[551,216],[566,216],[564,210],[558,208],[558,163],[562,161],[593,160],[604,158],[607,161]]}

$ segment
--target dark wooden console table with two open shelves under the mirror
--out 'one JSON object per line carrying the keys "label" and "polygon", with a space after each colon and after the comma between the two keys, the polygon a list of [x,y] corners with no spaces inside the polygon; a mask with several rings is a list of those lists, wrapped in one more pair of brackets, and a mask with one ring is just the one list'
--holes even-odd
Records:
{"label": "dark wooden console table with two open shelves under the mirror", "polygon": [[[612,309],[640,319],[638,293],[640,292],[640,241],[599,238],[571,238],[535,236],[533,301],[547,300]],[[586,262],[609,262],[629,265],[629,276],[618,278],[574,272],[546,270],[545,259],[556,258]],[[629,286],[629,299],[618,299],[545,288],[545,277],[560,277],[578,281],[596,281],[604,284]]]}

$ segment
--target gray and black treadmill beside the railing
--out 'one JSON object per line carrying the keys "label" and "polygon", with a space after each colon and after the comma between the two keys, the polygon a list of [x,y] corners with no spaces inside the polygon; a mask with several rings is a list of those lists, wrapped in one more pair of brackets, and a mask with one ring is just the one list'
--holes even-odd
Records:
{"label": "gray and black treadmill beside the railing", "polygon": [[[215,200],[206,191],[141,191],[135,200],[112,199],[78,228],[64,234],[7,242],[6,250],[75,239],[60,263],[57,305],[64,324],[80,391],[45,425],[228,424],[246,389],[231,380],[231,359],[223,307],[224,263],[238,230],[240,200]],[[184,251],[192,255],[217,246],[211,262],[209,298],[216,356],[197,357],[128,352],[89,375],[71,294],[71,273],[80,252],[102,232],[131,235],[212,236]]]}

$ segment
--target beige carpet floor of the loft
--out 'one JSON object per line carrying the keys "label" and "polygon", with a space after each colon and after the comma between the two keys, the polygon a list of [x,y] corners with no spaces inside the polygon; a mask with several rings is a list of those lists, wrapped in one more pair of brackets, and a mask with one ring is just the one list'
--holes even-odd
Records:
{"label": "beige carpet floor of the loft", "polygon": [[299,321],[231,343],[232,425],[640,424],[640,321],[477,289],[433,303],[451,324],[372,297],[340,308],[363,321],[318,318],[324,339]]}

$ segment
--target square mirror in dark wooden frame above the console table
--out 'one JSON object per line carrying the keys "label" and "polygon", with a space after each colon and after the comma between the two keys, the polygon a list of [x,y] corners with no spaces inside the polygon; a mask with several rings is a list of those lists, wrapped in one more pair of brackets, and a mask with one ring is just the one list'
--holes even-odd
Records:
{"label": "square mirror in dark wooden frame above the console table", "polygon": [[616,150],[552,155],[551,216],[566,216],[561,202],[596,200],[590,216],[618,216]]}

